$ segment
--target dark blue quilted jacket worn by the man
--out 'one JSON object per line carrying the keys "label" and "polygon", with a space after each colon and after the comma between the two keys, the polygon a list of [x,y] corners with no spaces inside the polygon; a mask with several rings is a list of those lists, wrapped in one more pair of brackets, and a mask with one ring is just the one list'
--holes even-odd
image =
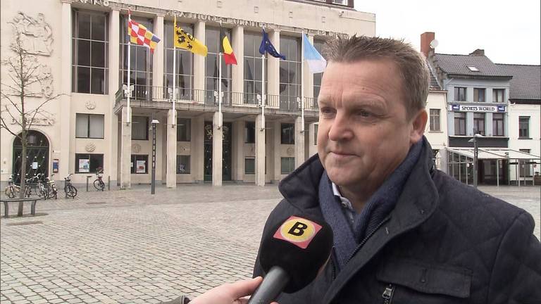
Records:
{"label": "dark blue quilted jacket worn by the man", "polygon": [[[288,215],[323,218],[313,156],[280,182],[284,199],[263,235]],[[428,142],[397,205],[337,273],[335,261],[288,303],[541,304],[541,243],[521,208],[433,167]],[[254,276],[263,275],[259,255]]]}

